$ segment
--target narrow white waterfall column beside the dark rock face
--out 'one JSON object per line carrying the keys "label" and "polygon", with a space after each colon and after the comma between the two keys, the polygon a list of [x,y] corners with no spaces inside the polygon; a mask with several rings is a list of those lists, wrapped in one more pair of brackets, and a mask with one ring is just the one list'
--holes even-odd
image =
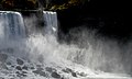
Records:
{"label": "narrow white waterfall column beside the dark rock face", "polygon": [[46,34],[57,34],[57,14],[56,12],[43,11]]}

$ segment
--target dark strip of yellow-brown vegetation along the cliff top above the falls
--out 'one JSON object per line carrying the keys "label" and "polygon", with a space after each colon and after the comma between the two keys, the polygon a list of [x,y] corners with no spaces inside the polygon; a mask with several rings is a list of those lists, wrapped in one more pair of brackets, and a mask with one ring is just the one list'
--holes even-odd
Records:
{"label": "dark strip of yellow-brown vegetation along the cliff top above the falls", "polygon": [[64,10],[74,5],[81,5],[88,0],[1,0],[1,9],[38,9]]}

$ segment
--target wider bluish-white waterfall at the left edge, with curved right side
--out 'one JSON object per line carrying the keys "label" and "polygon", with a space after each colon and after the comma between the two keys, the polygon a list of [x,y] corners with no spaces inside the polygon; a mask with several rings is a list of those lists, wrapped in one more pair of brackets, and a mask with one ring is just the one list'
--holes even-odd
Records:
{"label": "wider bluish-white waterfall at the left edge, with curved right side", "polygon": [[25,36],[25,26],[23,18],[19,12],[0,11],[0,21],[2,22],[2,36],[6,38],[20,38]]}

